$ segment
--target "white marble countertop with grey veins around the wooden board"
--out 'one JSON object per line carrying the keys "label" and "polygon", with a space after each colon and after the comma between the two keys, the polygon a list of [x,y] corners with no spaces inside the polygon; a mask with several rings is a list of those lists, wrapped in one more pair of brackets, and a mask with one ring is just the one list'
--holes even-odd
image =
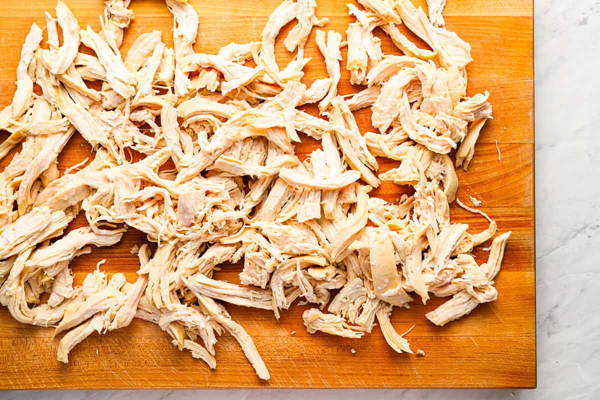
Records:
{"label": "white marble countertop with grey veins around the wooden board", "polygon": [[0,399],[599,399],[599,26],[600,1],[535,1],[538,389],[4,392]]}

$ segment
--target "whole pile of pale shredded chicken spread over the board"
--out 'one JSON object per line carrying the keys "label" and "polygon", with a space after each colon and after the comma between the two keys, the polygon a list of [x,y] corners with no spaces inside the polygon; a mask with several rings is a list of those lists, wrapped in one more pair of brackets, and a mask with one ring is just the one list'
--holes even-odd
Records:
{"label": "whole pile of pale shredded chicken spread over the board", "polygon": [[[429,16],[409,0],[359,3],[364,8],[348,5],[356,22],[346,40],[316,28],[328,76],[307,87],[304,47],[313,27],[328,22],[315,16],[315,0],[284,0],[260,41],[217,54],[194,52],[199,19],[185,0],[166,0],[173,49],[152,31],[124,54],[129,0],[106,1],[100,32],[80,28],[59,1],[56,17],[46,13],[47,48],[31,26],[16,94],[0,113],[10,133],[0,156],[21,146],[0,173],[0,303],[22,323],[64,332],[62,362],[92,332],[141,318],[211,368],[217,336],[227,331],[268,380],[227,303],[278,318],[302,297],[313,305],[302,315],[308,332],[361,338],[377,321],[395,351],[412,353],[389,320],[394,306],[452,296],[426,315],[442,326],[495,300],[510,232],[494,237],[479,265],[470,253],[496,223],[488,218],[489,228],[468,233],[449,218],[455,167],[467,169],[491,118],[487,92],[466,96],[470,46],[443,28],[445,1],[428,1]],[[293,20],[284,45],[297,55],[280,68],[275,38]],[[403,35],[400,23],[430,49]],[[382,52],[377,27],[403,55]],[[365,88],[346,96],[337,93],[343,46],[351,82]],[[318,103],[320,116],[298,108],[308,103]],[[359,131],[353,111],[364,107],[377,132]],[[57,157],[76,132],[91,144],[91,161],[61,175]],[[299,132],[320,140],[305,161],[294,152]],[[377,175],[377,157],[398,167]],[[369,196],[380,181],[414,194],[398,203]],[[88,225],[69,231],[79,213]],[[71,260],[118,243],[130,228],[156,247],[132,249],[137,280],[97,269],[74,286]],[[212,278],[219,264],[238,261],[241,284]]]}

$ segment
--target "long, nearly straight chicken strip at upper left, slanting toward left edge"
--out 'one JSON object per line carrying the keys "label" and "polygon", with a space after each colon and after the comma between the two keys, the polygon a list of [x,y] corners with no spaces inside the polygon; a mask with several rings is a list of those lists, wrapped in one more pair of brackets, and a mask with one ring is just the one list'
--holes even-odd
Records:
{"label": "long, nearly straight chicken strip at upper left, slanting toward left edge", "polygon": [[[61,4],[61,3],[59,3]],[[34,58],[34,53],[40,47],[40,42],[42,40],[42,32],[41,29],[34,24],[31,25],[31,29],[29,29],[29,33],[25,38],[25,43],[23,43],[23,47],[21,49],[21,58],[19,60],[19,65],[17,65],[17,90],[14,93],[12,103],[5,107],[2,112],[0,112],[0,128],[5,129],[11,124],[10,120],[16,120],[23,113],[26,112],[28,107],[31,105],[31,96],[33,94],[34,82],[29,77],[27,73],[29,68],[29,63],[31,63]],[[23,136],[20,136],[22,139]],[[9,139],[4,143],[8,142]],[[20,139],[19,139],[20,141]],[[4,145],[2,143],[2,145]],[[7,150],[2,151],[2,157],[16,144],[10,143],[10,146]]]}

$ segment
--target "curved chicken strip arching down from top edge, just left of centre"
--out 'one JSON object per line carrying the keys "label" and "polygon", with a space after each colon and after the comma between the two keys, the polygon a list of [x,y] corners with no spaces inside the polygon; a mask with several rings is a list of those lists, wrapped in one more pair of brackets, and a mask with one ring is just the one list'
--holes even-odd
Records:
{"label": "curved chicken strip arching down from top edge, just left of centre", "polygon": [[[302,8],[304,7],[306,7],[305,10],[310,8],[310,2],[303,2]],[[279,72],[279,66],[277,65],[277,61],[275,61],[275,38],[279,34],[279,31],[281,31],[281,28],[296,18],[299,13],[299,8],[298,2],[284,0],[271,13],[268,21],[266,22],[265,28],[263,28],[262,31],[262,42],[260,45],[260,55],[257,64],[263,65],[274,73]],[[302,57],[299,56],[298,58]]]}

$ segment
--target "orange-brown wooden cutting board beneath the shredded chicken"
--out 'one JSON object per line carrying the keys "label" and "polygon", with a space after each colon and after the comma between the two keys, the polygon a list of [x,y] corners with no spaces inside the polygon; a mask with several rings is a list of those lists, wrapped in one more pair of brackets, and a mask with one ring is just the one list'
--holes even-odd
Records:
{"label": "orange-brown wooden cutting board beneath the shredded chicken", "polygon": [[[80,26],[99,29],[100,0],[66,0]],[[213,53],[230,41],[260,40],[260,32],[278,0],[190,0],[200,16],[196,52]],[[318,0],[317,16],[329,17],[328,29],[341,32],[347,24],[346,1]],[[187,351],[178,351],[166,333],[152,323],[134,320],[125,329],[92,335],[70,353],[70,363],[56,360],[58,339],[52,329],[17,323],[7,309],[0,310],[1,389],[108,389],[202,387],[535,387],[535,246],[533,186],[533,1],[448,0],[445,19],[472,46],[475,60],[469,65],[468,94],[490,91],[494,119],[486,124],[476,145],[468,173],[459,172],[458,197],[482,200],[481,210],[496,219],[499,231],[512,230],[502,270],[497,277],[496,302],[478,306],[470,315],[445,327],[433,326],[424,314],[445,299],[433,298],[426,306],[413,302],[410,310],[395,309],[392,323],[399,332],[413,324],[406,337],[413,350],[425,357],[397,354],[388,347],[378,327],[362,339],[344,339],[325,333],[311,335],[302,324],[305,307],[292,306],[277,321],[272,312],[228,305],[234,320],[254,338],[271,372],[263,382],[231,336],[216,346],[217,369],[209,370]],[[425,7],[425,1],[419,1]],[[0,2],[0,106],[10,103],[20,48],[32,22],[44,26],[44,11],[53,14],[54,0]],[[123,49],[152,29],[163,31],[172,46],[172,17],[160,0],[133,0],[136,19],[125,31]],[[277,44],[278,60],[284,51],[283,35]],[[385,53],[398,54],[382,32]],[[314,45],[314,31],[307,47],[313,57],[303,82],[325,76],[323,59]],[[343,51],[344,64],[346,52]],[[340,94],[357,91],[342,68]],[[368,111],[357,113],[361,130],[371,130]],[[5,133],[0,134],[2,140]],[[502,154],[498,160],[497,147]],[[297,146],[304,155],[316,146],[305,140]],[[89,146],[74,137],[59,158],[59,168],[89,156]],[[5,166],[10,156],[2,160]],[[380,160],[380,172],[397,162]],[[377,191],[386,200],[398,199],[402,188],[383,184]],[[452,219],[468,222],[472,231],[486,227],[477,215],[452,207]],[[82,218],[73,227],[85,224]],[[108,272],[123,272],[135,279],[137,258],[129,249],[144,237],[129,231],[119,245],[94,248],[72,264],[80,282],[100,260]],[[476,250],[482,263],[487,253]],[[239,266],[224,266],[217,278],[237,281]],[[292,332],[295,332],[292,335]],[[355,352],[352,351],[355,350]]]}

